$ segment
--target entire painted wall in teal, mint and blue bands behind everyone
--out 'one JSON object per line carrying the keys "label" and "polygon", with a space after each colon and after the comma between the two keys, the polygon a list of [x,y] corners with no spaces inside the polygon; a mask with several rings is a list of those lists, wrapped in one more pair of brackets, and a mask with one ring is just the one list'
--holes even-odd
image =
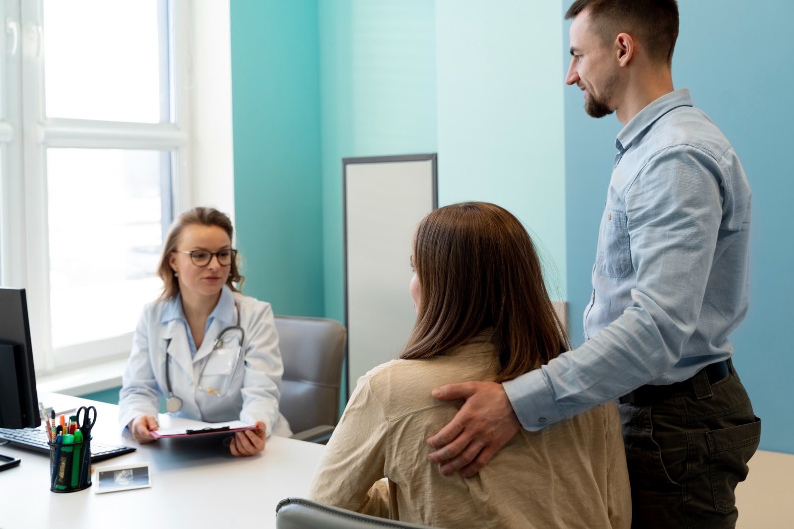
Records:
{"label": "entire painted wall in teal, mint and blue bands behind everyone", "polygon": [[[437,152],[442,205],[491,200],[532,230],[581,342],[621,126],[588,118],[580,92],[563,84],[568,3],[232,0],[246,292],[281,314],[342,319],[341,159]],[[676,87],[689,87],[730,138],[754,190],[751,306],[732,336],[735,364],[764,420],[761,446],[794,453],[781,397],[794,372],[782,331],[794,252],[779,235],[794,227],[784,203],[794,196],[784,160],[794,115],[777,88],[794,80],[780,52],[794,3],[680,10]]]}

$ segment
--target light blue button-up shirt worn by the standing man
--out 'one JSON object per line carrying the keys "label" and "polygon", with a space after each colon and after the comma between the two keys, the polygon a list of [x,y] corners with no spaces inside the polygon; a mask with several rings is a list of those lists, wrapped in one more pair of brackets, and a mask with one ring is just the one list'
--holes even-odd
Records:
{"label": "light blue button-up shirt worn by the standing man", "polygon": [[530,431],[730,357],[747,312],[750,186],[723,133],[684,89],[634,116],[615,147],[587,341],[504,383]]}

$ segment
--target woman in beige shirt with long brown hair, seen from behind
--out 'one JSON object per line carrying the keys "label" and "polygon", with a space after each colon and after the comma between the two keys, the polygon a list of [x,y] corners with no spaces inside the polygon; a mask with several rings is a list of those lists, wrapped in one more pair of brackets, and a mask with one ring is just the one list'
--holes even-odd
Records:
{"label": "woman in beige shirt with long brown hair, seen from behind", "polygon": [[310,498],[437,527],[630,527],[612,402],[519,431],[472,478],[442,476],[427,461],[426,438],[459,407],[435,400],[434,388],[509,380],[568,344],[532,241],[507,210],[489,203],[435,210],[417,228],[411,262],[413,333],[400,360],[358,380]]}

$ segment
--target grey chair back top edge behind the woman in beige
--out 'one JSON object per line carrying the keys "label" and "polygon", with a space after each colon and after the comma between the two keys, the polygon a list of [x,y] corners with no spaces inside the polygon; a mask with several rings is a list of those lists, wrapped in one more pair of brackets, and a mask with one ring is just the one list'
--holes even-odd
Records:
{"label": "grey chair back top edge behind the woman in beige", "polygon": [[426,525],[363,515],[303,498],[287,498],[279,501],[276,507],[276,529],[372,529],[372,527],[432,529]]}

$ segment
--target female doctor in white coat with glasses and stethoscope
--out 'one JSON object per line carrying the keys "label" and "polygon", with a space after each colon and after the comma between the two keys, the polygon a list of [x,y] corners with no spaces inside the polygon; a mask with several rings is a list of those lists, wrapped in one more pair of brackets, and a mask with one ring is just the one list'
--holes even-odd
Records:
{"label": "female doctor in white coat with glasses and stethoscope", "polygon": [[235,284],[237,251],[225,214],[196,207],[179,215],[166,238],[158,275],[163,292],[144,307],[122,379],[119,422],[152,442],[160,398],[174,415],[208,423],[241,420],[233,455],[264,450],[271,433],[291,435],[279,413],[283,373],[269,303]]}

